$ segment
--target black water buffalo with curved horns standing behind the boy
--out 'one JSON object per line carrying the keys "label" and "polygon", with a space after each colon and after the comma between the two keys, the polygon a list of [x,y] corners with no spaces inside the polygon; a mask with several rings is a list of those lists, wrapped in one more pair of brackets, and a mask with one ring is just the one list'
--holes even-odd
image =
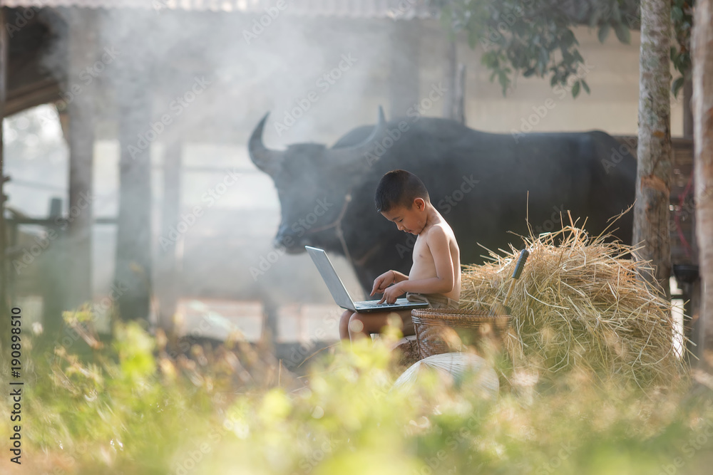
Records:
{"label": "black water buffalo with curved horns standing behind the boy", "polygon": [[[599,234],[634,202],[636,160],[605,132],[513,137],[416,115],[386,122],[379,110],[379,123],[352,130],[332,148],[304,143],[282,152],[263,145],[266,120],[248,148],[279,195],[275,244],[291,253],[309,244],[347,256],[365,290],[379,273],[408,273],[411,266],[415,236],[398,231],[374,207],[376,184],[391,169],[408,169],[426,184],[456,234],[461,263],[483,261],[478,244],[522,246],[508,231],[528,234],[528,209],[535,234],[559,229],[560,212],[568,220],[568,210]],[[630,243],[632,213],[615,227],[615,236]]]}

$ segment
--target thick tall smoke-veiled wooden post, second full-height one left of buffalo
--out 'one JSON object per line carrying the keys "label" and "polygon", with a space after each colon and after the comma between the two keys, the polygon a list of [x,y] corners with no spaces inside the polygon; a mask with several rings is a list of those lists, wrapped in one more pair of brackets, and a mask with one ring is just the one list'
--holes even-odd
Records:
{"label": "thick tall smoke-veiled wooden post, second full-height one left of buffalo", "polygon": [[161,132],[152,128],[151,116],[156,20],[153,11],[116,9],[106,21],[125,26],[110,28],[106,45],[120,48],[108,74],[116,90],[120,149],[112,297],[118,318],[148,328],[153,278],[151,145]]}

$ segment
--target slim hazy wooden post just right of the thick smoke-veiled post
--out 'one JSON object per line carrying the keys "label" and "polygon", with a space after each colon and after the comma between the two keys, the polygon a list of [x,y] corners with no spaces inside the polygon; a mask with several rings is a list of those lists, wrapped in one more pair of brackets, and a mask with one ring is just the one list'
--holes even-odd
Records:
{"label": "slim hazy wooden post just right of the thick smoke-veiled post", "polygon": [[176,268],[178,244],[168,238],[168,230],[175,227],[180,218],[181,152],[180,140],[173,138],[166,147],[163,157],[163,209],[159,233],[160,261],[156,291],[160,292],[158,325],[166,333],[173,331],[173,315],[178,301],[178,269]]}

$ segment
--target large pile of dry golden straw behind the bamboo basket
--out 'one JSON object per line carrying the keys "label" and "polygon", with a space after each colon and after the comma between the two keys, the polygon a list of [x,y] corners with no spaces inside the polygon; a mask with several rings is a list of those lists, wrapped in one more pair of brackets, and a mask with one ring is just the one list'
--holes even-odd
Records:
{"label": "large pile of dry golden straw behind the bamboo basket", "polygon": [[[508,302],[513,374],[552,380],[588,370],[601,382],[624,377],[642,388],[680,380],[685,365],[672,341],[682,337],[670,303],[637,280],[650,268],[630,259],[631,246],[574,226],[525,243],[530,257]],[[490,254],[489,263],[464,266],[461,308],[503,300],[519,253]]]}

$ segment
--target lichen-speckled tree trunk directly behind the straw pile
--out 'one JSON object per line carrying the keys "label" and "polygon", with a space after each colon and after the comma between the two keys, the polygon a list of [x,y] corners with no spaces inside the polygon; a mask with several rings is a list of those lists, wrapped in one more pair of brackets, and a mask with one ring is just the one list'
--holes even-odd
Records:
{"label": "lichen-speckled tree trunk directly behind the straw pile", "polygon": [[642,276],[670,296],[671,244],[671,85],[669,0],[641,2],[639,59],[639,145],[637,148],[634,242],[644,246],[637,257],[651,261],[652,276]]}

